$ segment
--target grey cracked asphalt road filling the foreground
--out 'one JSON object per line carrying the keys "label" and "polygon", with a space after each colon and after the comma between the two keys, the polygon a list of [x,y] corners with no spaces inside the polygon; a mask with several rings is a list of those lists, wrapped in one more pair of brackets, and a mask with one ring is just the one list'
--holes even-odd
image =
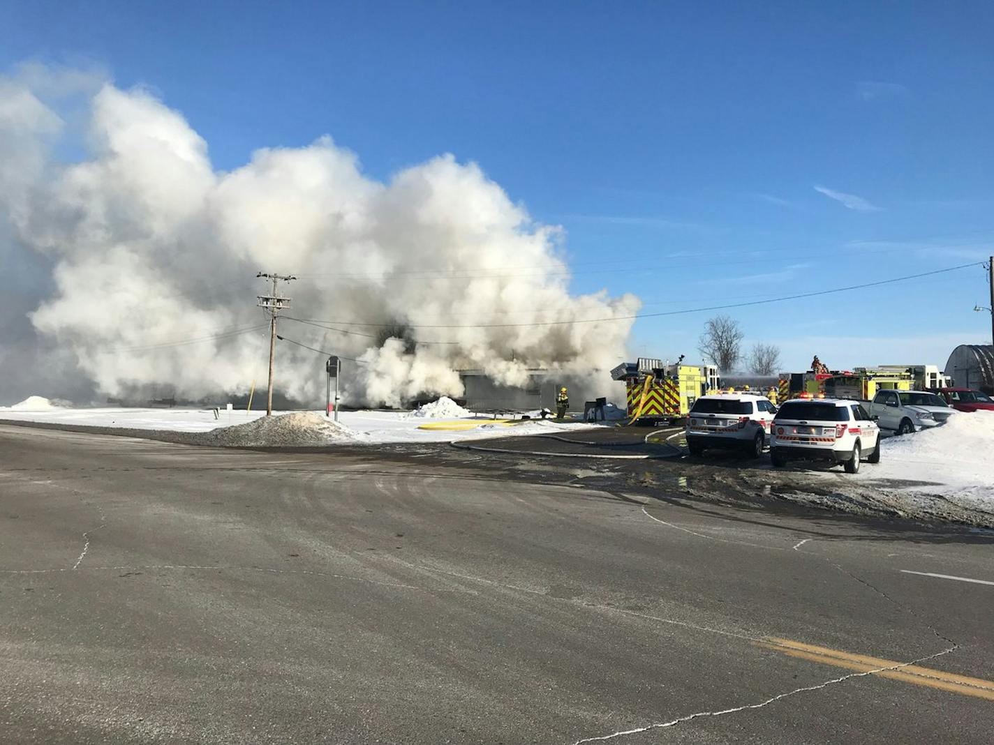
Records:
{"label": "grey cracked asphalt road filling the foreground", "polygon": [[991,741],[989,534],[566,484],[0,426],[0,741]]}

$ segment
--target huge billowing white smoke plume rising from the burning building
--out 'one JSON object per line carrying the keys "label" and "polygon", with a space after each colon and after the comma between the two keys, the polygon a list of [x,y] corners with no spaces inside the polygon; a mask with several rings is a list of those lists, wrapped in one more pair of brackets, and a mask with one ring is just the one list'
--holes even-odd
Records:
{"label": "huge billowing white smoke plume rising from the burning building", "polygon": [[[58,358],[64,389],[46,392],[81,377],[105,395],[264,386],[257,271],[298,277],[280,288],[285,315],[311,324],[279,333],[359,360],[343,375],[356,402],[458,395],[460,369],[511,384],[530,368],[602,374],[640,303],[571,296],[562,238],[450,155],[380,183],[321,137],[219,172],[147,90],[74,71],[0,77],[0,256],[31,288],[4,308],[31,326],[5,330],[0,373],[15,342],[51,350],[28,360],[38,379],[30,366]],[[550,324],[586,319],[606,320]],[[321,400],[321,357],[277,345],[277,390]]]}

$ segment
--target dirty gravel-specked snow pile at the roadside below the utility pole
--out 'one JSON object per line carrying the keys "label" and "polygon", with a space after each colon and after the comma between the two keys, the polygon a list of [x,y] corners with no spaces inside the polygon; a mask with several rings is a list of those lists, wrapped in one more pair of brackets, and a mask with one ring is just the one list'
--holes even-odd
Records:
{"label": "dirty gravel-specked snow pile at the roadside below the utility pole", "polygon": [[201,444],[220,447],[315,447],[354,439],[351,429],[312,411],[263,416],[198,436]]}

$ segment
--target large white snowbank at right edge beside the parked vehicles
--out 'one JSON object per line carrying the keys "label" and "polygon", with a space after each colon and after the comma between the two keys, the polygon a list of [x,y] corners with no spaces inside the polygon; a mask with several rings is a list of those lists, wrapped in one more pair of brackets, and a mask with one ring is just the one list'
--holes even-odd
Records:
{"label": "large white snowbank at right edge beside the parked vehicles", "polygon": [[994,507],[994,411],[957,412],[942,426],[882,442],[881,463],[862,479],[914,482],[915,492]]}

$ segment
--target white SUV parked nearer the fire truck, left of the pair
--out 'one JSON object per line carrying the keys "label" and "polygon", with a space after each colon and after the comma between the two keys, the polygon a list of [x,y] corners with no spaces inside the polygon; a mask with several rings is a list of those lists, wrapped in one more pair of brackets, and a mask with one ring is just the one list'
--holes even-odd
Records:
{"label": "white SUV parked nearer the fire truck, left of the pair", "polygon": [[703,395],[687,414],[687,449],[701,455],[706,448],[733,448],[758,458],[775,413],[768,398],[754,393]]}

